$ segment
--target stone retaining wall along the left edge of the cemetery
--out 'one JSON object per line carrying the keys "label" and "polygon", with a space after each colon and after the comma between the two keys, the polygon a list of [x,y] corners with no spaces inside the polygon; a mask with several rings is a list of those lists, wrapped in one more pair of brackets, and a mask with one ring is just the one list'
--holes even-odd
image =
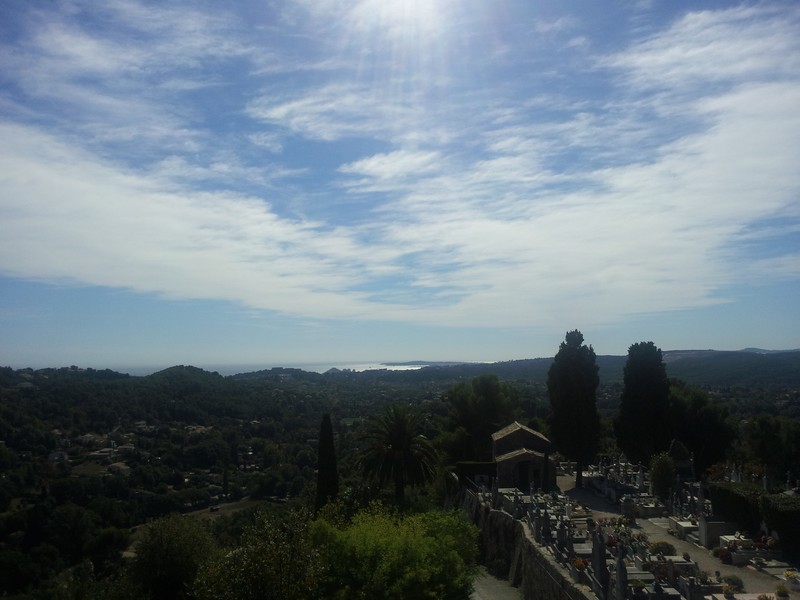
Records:
{"label": "stone retaining wall along the left edge of the cemetery", "polygon": [[492,575],[519,587],[525,600],[597,600],[536,543],[527,524],[491,508],[469,490],[461,506],[480,531],[480,562]]}

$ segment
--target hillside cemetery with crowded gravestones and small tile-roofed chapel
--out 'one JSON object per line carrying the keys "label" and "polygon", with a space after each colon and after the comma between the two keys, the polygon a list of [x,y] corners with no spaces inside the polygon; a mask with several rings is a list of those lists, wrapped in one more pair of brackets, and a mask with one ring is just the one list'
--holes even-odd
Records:
{"label": "hillside cemetery with crowded gravestones and small tile-roofed chapel", "polygon": [[[691,455],[675,461],[682,468],[666,502],[653,494],[642,465],[624,456],[591,465],[577,489],[574,463],[550,461],[546,438],[526,429],[513,424],[493,436],[495,457],[503,460],[491,483],[462,478],[462,508],[481,531],[482,562],[526,600],[800,597],[798,571],[783,560],[779,533],[763,522],[745,533],[715,515],[706,484],[692,477]],[[510,438],[532,441],[536,450],[515,449]],[[509,457],[530,464],[520,473],[518,464],[516,471],[501,465]],[[741,467],[725,477],[737,482]]]}

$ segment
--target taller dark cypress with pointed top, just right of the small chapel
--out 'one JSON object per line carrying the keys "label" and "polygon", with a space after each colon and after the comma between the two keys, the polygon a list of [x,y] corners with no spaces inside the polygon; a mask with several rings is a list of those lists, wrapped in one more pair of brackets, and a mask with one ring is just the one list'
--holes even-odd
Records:
{"label": "taller dark cypress with pointed top, just right of the small chapel", "polygon": [[583,485],[583,467],[594,458],[600,440],[594,349],[577,329],[567,332],[547,372],[550,395],[550,435],[564,456],[577,463],[575,485]]}

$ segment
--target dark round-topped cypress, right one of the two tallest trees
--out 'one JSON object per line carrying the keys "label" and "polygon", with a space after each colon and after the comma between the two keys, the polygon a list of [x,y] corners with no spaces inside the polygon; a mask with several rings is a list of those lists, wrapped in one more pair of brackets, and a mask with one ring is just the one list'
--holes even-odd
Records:
{"label": "dark round-topped cypress, right one of the two tallest trees", "polygon": [[669,379],[661,349],[653,342],[628,348],[614,432],[617,445],[632,462],[648,464],[654,454],[669,448]]}

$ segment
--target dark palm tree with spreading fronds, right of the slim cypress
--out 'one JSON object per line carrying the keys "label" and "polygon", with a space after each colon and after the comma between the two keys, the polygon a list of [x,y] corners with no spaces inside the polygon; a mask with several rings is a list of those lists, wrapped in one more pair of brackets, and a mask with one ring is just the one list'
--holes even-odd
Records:
{"label": "dark palm tree with spreading fronds, right of the slim cypress", "polygon": [[379,485],[392,481],[398,505],[407,485],[433,481],[436,471],[436,450],[419,433],[420,424],[419,414],[395,404],[373,419],[359,438],[361,470]]}

